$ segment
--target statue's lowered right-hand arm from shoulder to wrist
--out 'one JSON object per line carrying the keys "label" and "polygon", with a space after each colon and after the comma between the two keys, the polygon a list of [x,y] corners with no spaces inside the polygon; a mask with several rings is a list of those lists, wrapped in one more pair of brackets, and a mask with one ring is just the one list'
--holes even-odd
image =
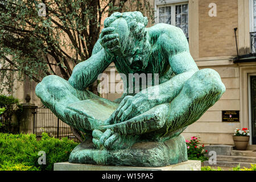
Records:
{"label": "statue's lowered right-hand arm from shoulder to wrist", "polygon": [[168,55],[168,61],[175,75],[170,80],[146,90],[142,90],[134,96],[152,98],[150,106],[171,102],[179,94],[183,84],[199,69],[191,54],[187,38],[180,28],[167,26],[167,31],[159,36],[157,47],[163,47],[163,52]]}

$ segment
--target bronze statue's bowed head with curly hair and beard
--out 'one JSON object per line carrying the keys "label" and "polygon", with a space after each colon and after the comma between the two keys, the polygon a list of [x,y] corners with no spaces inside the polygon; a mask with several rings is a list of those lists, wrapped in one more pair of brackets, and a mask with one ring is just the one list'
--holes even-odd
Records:
{"label": "bronze statue's bowed head with curly hair and beard", "polygon": [[[114,27],[119,35],[123,57],[129,64],[145,57],[150,52],[149,43],[146,42],[146,30],[148,20],[141,12],[113,13],[104,21],[104,27]],[[143,56],[142,56],[143,55]],[[147,64],[144,63],[143,65]]]}

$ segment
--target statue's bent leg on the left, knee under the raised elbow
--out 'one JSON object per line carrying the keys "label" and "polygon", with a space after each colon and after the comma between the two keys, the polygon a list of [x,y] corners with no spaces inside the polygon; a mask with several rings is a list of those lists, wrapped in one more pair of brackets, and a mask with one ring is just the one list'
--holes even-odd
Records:
{"label": "statue's bent leg on the left, knee under the raised elbow", "polygon": [[42,82],[36,86],[36,95],[63,122],[86,133],[88,131],[92,133],[93,124],[90,125],[85,115],[68,109],[68,105],[92,98],[106,100],[88,90],[76,90],[67,80],[55,75],[43,78]]}

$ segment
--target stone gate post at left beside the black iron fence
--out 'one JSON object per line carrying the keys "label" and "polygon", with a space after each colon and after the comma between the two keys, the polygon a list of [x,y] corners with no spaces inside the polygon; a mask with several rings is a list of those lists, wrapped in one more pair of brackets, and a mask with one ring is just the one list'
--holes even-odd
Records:
{"label": "stone gate post at left beside the black iron fence", "polygon": [[38,106],[32,104],[22,104],[22,114],[20,115],[20,133],[34,133],[35,111]]}

